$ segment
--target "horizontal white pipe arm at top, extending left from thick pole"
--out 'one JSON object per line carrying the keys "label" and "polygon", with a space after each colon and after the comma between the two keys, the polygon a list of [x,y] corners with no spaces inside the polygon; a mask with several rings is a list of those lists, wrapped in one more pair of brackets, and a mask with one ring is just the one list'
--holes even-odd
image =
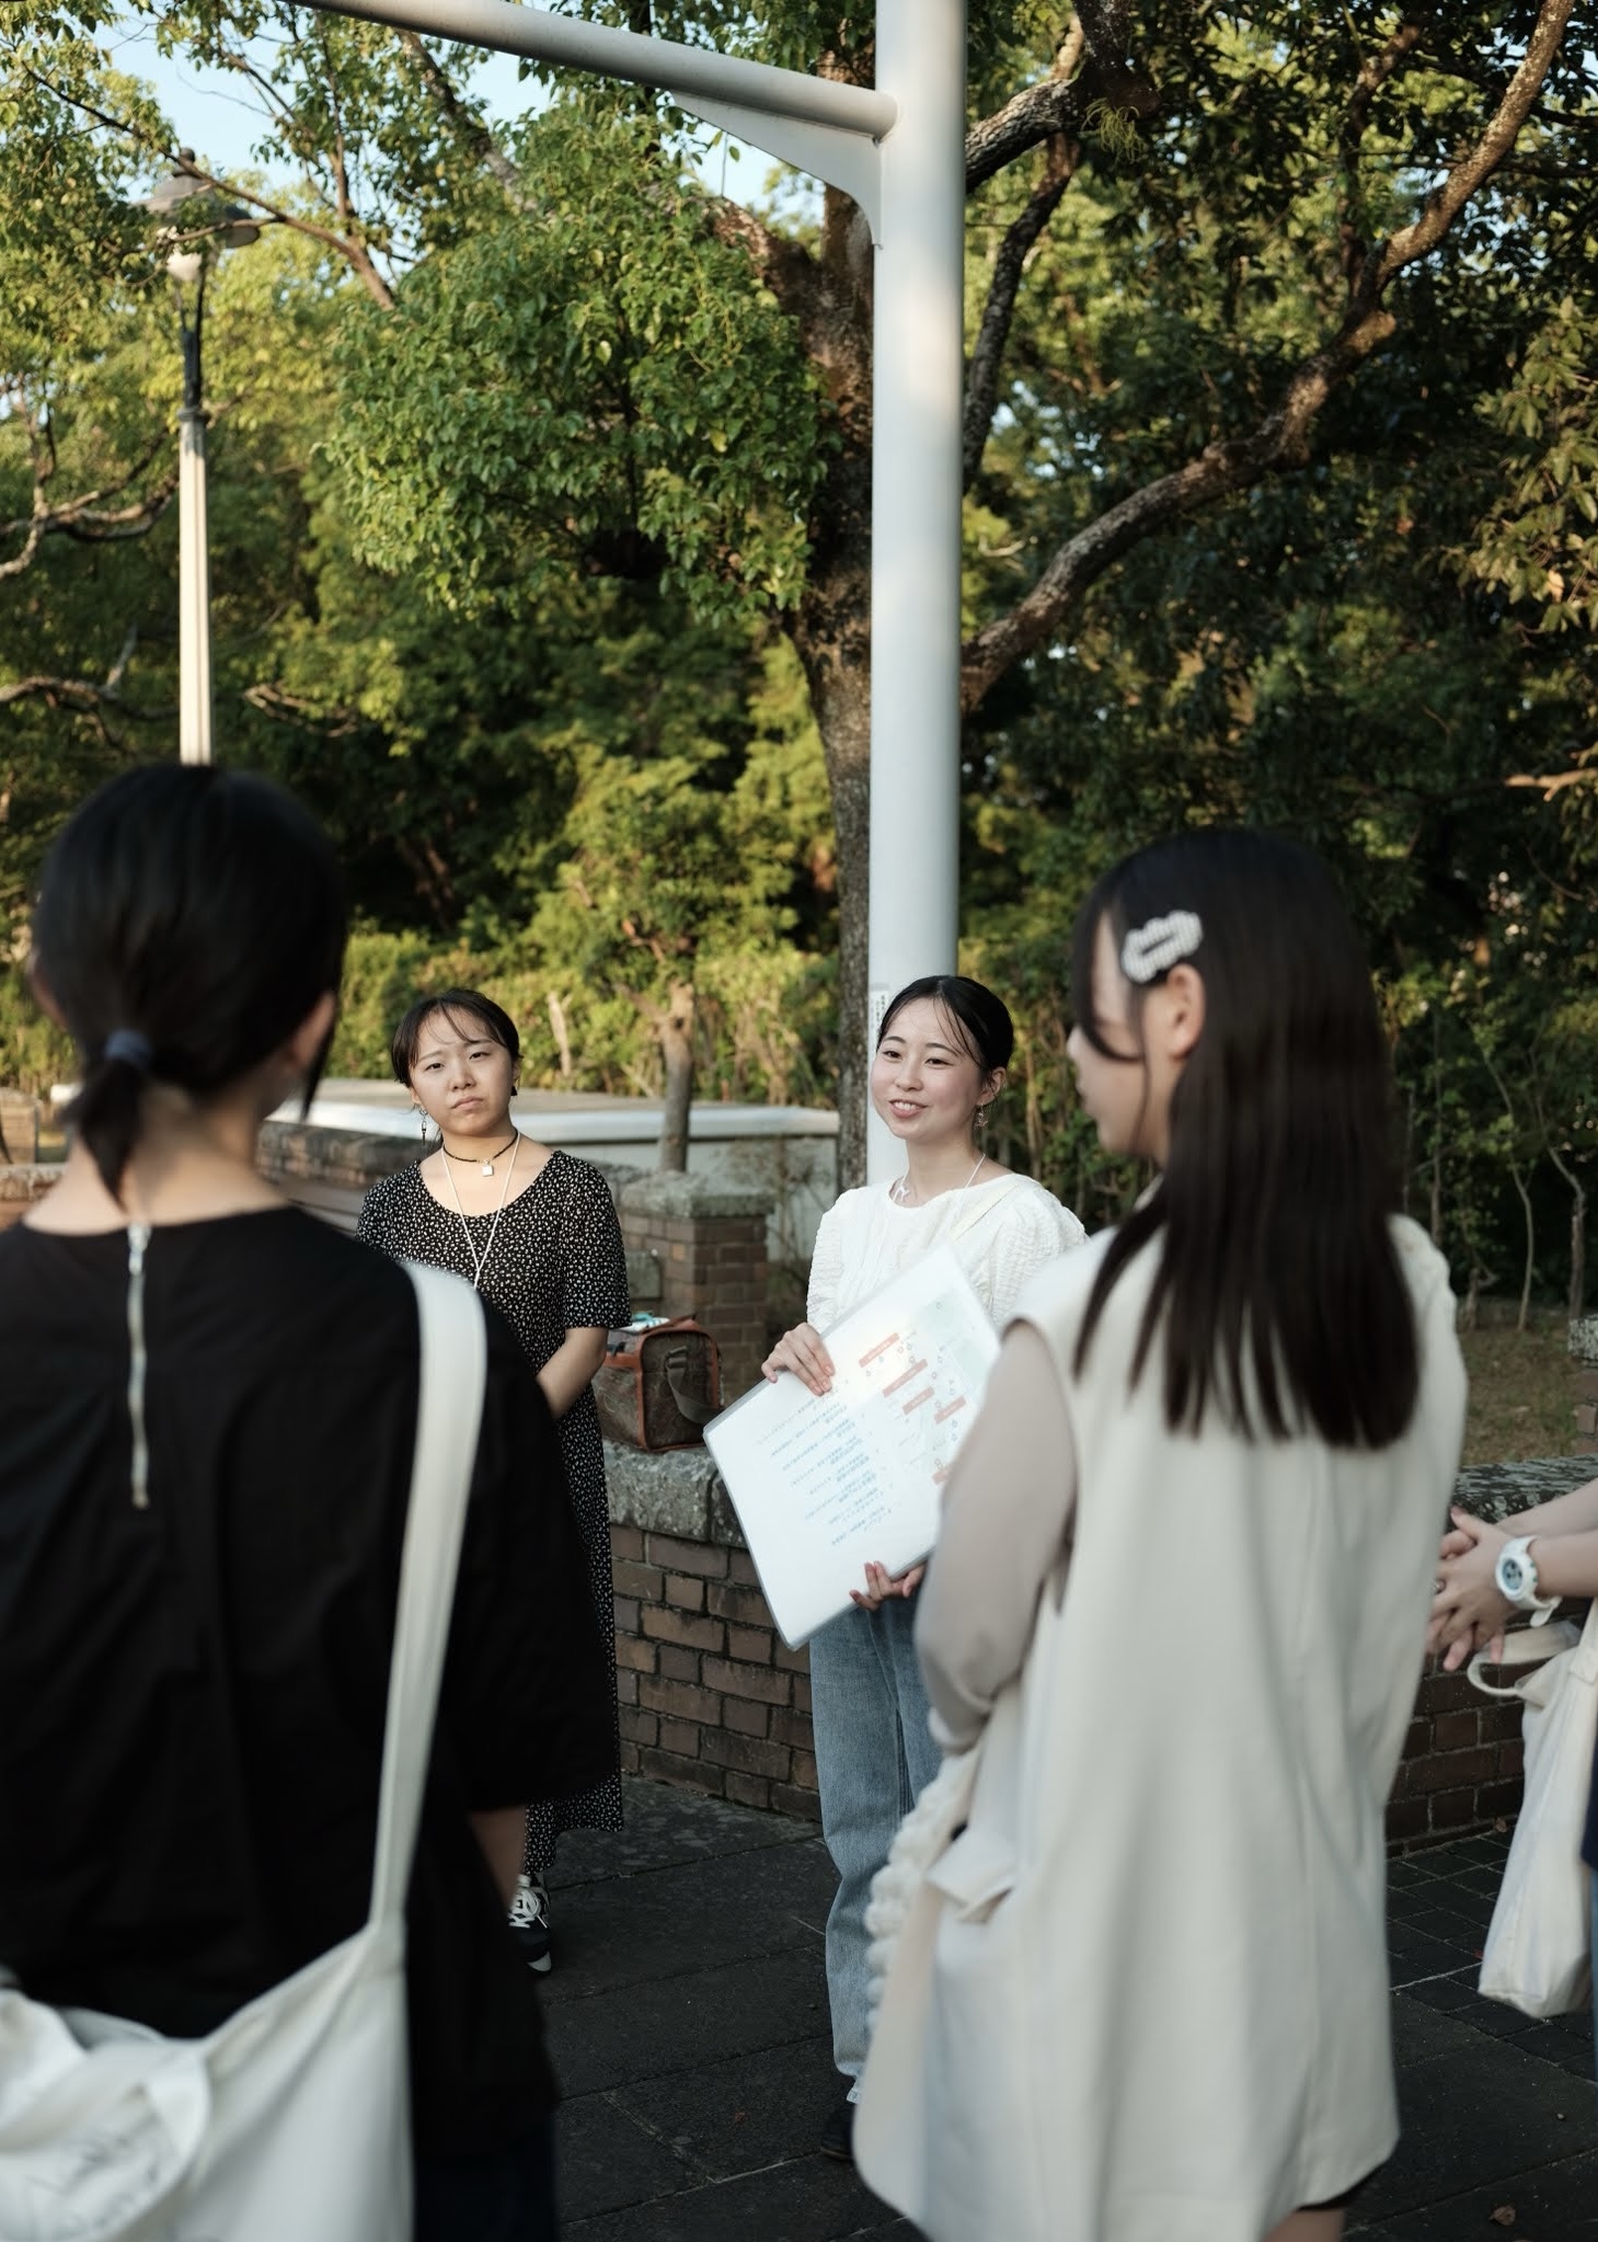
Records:
{"label": "horizontal white pipe arm at top, extending left from thick pole", "polygon": [[668,38],[643,38],[639,31],[612,31],[574,16],[518,7],[515,0],[312,0],[312,7],[424,31],[428,38],[498,47],[500,54],[524,54],[536,63],[596,70],[632,85],[661,85],[672,94],[737,101],[746,110],[838,126],[865,139],[892,132],[899,117],[899,103],[890,94],[876,94],[865,85],[836,85],[800,70],[773,70],[769,63],[744,63],[706,47],[681,47]]}

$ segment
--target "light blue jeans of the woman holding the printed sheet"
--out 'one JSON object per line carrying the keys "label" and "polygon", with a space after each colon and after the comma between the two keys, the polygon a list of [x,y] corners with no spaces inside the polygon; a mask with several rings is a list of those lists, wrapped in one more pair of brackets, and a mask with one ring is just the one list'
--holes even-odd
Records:
{"label": "light blue jeans of the woman holding the printed sheet", "polygon": [[865,1901],[899,1823],[939,1769],[914,1655],[914,1599],[852,1610],[809,1641],[820,1827],[838,1892],[827,1915],[831,2060],[845,2078],[865,2067]]}

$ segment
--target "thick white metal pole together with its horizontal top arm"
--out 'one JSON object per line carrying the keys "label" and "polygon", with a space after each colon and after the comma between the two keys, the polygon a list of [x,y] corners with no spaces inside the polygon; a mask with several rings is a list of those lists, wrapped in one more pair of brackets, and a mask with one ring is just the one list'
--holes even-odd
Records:
{"label": "thick white metal pole together with its horizontal top arm", "polygon": [[[854,195],[872,229],[870,1031],[959,926],[959,392],[966,0],[876,0],[876,85],[840,85],[513,0],[312,7],[663,85],[693,117]],[[867,1034],[870,1034],[867,1031]],[[867,1170],[901,1155],[872,1114]]]}

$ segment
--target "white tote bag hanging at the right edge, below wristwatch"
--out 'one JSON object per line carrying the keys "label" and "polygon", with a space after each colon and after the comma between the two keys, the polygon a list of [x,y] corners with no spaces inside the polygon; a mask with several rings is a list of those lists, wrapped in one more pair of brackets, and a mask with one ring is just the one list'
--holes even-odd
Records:
{"label": "white tote bag hanging at the right edge, below wristwatch", "polygon": [[[1555,1630],[1549,1628],[1549,1634]],[[1533,1657],[1542,1630],[1522,1628],[1506,1652]],[[1569,1630],[1567,1630],[1569,1637]],[[1526,2016],[1564,2016],[1591,1995],[1589,1870],[1582,1861],[1587,1794],[1598,1740],[1598,1603],[1571,1650],[1508,1688],[1493,1688],[1470,1661],[1470,1679],[1488,1697],[1526,1706],[1526,1798],[1504,1865],[1493,1924],[1481,1948],[1479,1986]]]}

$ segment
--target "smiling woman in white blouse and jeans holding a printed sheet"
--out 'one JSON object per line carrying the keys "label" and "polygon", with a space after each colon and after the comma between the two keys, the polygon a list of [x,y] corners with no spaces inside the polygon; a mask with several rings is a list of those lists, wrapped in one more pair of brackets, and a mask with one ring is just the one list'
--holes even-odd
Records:
{"label": "smiling woman in white blouse and jeans holding a printed sheet", "polygon": [[[872,1060],[872,1105],[905,1148],[894,1184],[845,1191],[823,1217],[809,1273],[809,1321],[784,1332],[764,1361],[811,1392],[831,1386],[823,1341],[921,1256],[948,1244],[1002,1330],[1026,1280],[1083,1244],[1083,1224],[1026,1175],[982,1150],[988,1108],[1004,1087],[1015,1029],[982,982],[928,975],[883,1016]],[[838,1870],[827,1917],[827,1998],[845,2096],[823,2148],[852,2155],[856,2081],[870,2031],[865,1901],[894,1829],[939,1767],[917,1668],[912,1596],[921,1565],[892,1578],[867,1565],[854,1612],[811,1637],[820,1818]]]}

